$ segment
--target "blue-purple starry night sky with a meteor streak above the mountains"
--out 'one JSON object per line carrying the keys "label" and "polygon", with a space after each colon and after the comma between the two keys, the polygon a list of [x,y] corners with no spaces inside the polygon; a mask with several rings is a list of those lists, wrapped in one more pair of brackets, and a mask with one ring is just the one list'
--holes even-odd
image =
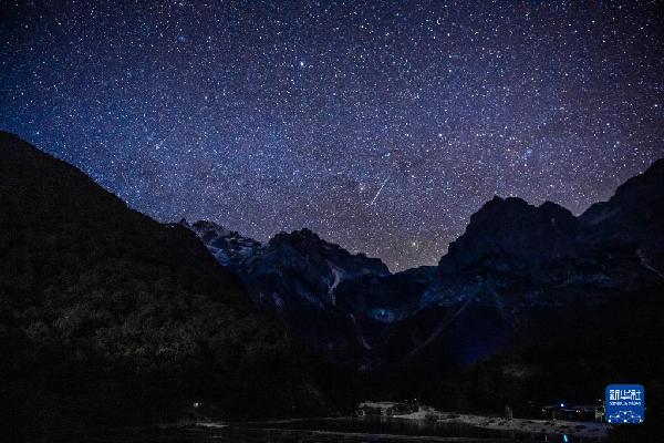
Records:
{"label": "blue-purple starry night sky with a meteor streak above the mountains", "polygon": [[664,156],[656,2],[101,3],[0,0],[0,128],[158,220],[398,270],[495,194],[578,214]]}

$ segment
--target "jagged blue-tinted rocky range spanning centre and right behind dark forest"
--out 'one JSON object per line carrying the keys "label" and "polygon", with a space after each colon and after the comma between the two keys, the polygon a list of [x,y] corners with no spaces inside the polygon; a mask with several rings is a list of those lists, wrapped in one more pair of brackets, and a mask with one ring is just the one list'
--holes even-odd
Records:
{"label": "jagged blue-tinted rocky range spanning centre and right behind dark forest", "polygon": [[[360,356],[359,367],[402,364],[439,341],[473,361],[531,332],[542,309],[557,315],[658,290],[662,208],[664,159],[578,217],[551,202],[495,197],[436,267],[391,274],[305,229],[278,234],[235,270],[256,301],[282,312],[319,349]],[[473,331],[478,323],[491,324],[492,343]]]}

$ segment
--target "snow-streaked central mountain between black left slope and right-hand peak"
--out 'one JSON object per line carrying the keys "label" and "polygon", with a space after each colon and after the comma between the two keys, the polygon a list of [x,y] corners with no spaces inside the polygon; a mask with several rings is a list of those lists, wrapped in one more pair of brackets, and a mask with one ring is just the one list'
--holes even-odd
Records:
{"label": "snow-streaked central mountain between black left slope and right-hand peak", "polygon": [[309,229],[279,233],[260,244],[211,222],[180,225],[237,274],[259,306],[277,312],[313,348],[344,365],[372,364],[371,348],[385,330],[384,319],[378,310],[349,309],[340,288],[390,275],[380,259],[353,255]]}

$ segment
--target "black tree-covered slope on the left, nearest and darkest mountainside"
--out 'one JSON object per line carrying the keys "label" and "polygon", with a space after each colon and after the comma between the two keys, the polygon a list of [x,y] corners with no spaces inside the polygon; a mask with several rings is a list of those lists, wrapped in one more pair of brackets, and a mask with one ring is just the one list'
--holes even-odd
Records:
{"label": "black tree-covered slope on the left, nearest and darkest mountainside", "polygon": [[0,207],[1,412],[15,435],[173,420],[195,401],[224,416],[323,405],[305,353],[188,229],[7,133]]}

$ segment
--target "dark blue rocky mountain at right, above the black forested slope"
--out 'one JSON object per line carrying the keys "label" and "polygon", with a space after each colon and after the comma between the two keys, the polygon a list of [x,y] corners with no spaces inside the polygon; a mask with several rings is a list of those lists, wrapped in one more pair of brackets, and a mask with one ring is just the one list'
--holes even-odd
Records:
{"label": "dark blue rocky mountain at right, above the black forested slope", "polygon": [[456,317],[443,316],[409,347],[475,361],[523,340],[574,333],[596,312],[613,316],[611,306],[657,303],[652,297],[664,291],[663,208],[664,161],[580,217],[548,202],[536,207],[494,198],[438,266],[437,292],[453,301]]}

